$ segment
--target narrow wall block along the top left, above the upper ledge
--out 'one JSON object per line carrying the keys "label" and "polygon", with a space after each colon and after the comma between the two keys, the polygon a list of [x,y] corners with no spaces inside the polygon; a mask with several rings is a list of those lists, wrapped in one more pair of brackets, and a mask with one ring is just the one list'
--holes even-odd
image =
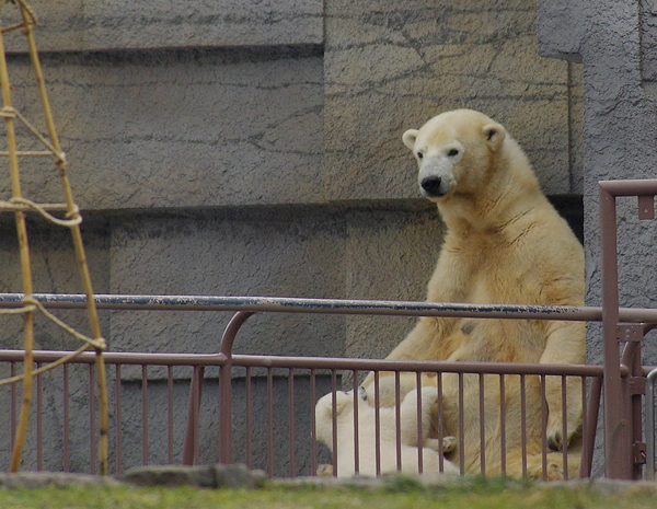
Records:
{"label": "narrow wall block along the top left, above the upper ledge", "polygon": [[[39,19],[42,51],[277,46],[323,39],[321,0],[32,0],[30,4]],[[9,47],[24,50],[23,44]]]}

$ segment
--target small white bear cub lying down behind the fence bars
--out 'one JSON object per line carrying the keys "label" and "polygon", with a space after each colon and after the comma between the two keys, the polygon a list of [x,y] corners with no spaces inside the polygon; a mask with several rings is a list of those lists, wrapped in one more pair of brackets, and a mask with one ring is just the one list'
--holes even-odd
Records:
{"label": "small white bear cub lying down behind the fence bars", "polygon": [[[367,401],[367,393],[361,389],[358,402],[358,473],[360,475],[377,475],[376,459],[376,408]],[[428,438],[431,412],[438,401],[436,387],[422,389],[422,453],[423,473],[439,474],[439,443]],[[419,473],[418,468],[418,435],[417,435],[417,390],[411,391],[400,405],[401,410],[401,471]],[[355,433],[354,433],[354,393],[337,391],[335,393],[335,414],[337,425],[337,476],[350,477],[356,474],[355,467]],[[396,458],[396,412],[394,407],[379,408],[380,421],[380,472],[381,474],[397,471]],[[320,398],[315,406],[316,438],[328,449],[333,450],[333,393]],[[456,438],[443,439],[443,451],[450,452],[456,448]],[[442,460],[445,474],[459,474],[459,468],[451,462]],[[318,468],[321,475],[332,475],[332,465]]]}

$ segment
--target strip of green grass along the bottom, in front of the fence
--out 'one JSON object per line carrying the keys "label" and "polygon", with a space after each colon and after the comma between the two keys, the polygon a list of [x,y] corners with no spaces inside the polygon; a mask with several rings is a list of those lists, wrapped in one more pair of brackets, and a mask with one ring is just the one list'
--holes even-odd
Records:
{"label": "strip of green grass along the bottom, in front of the fence", "polygon": [[384,488],[325,488],[315,486],[261,489],[197,489],[135,487],[46,487],[0,490],[2,509],[654,509],[657,486],[636,485],[612,494],[586,486],[546,486],[507,479],[469,479],[456,486],[422,487],[396,481]]}

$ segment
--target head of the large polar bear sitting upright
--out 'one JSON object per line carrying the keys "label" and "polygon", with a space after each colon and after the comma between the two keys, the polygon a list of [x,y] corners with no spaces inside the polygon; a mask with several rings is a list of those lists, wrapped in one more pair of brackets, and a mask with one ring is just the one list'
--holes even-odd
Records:
{"label": "head of the large polar bear sitting upright", "polygon": [[436,203],[486,186],[507,138],[503,126],[472,109],[442,113],[402,137],[417,159],[423,196]]}

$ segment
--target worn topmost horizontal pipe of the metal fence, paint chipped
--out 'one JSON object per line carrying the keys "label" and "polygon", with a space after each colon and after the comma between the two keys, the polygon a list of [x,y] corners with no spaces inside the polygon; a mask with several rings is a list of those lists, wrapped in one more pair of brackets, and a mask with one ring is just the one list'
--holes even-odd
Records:
{"label": "worn topmost horizontal pipe of the metal fence, paint chipped", "polygon": [[[83,294],[34,293],[49,309],[84,309]],[[20,308],[22,293],[0,293],[0,308]],[[600,322],[602,309],[574,305],[472,304],[283,297],[96,294],[97,309],[128,311],[252,311],[275,313],[452,316],[471,319],[566,320]],[[622,322],[657,323],[656,309],[620,310]]]}

